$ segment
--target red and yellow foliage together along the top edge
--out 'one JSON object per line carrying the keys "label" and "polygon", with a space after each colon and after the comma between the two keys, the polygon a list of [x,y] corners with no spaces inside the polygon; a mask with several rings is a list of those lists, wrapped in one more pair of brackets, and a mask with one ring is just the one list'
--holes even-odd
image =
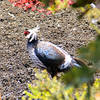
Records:
{"label": "red and yellow foliage together along the top edge", "polygon": [[[32,9],[32,11],[39,11],[47,15],[51,12],[67,7],[67,0],[8,0],[14,6],[23,8],[24,10]],[[38,7],[40,9],[38,9]],[[47,12],[49,10],[49,12]],[[47,12],[47,13],[46,13]],[[49,14],[48,14],[49,13]]]}

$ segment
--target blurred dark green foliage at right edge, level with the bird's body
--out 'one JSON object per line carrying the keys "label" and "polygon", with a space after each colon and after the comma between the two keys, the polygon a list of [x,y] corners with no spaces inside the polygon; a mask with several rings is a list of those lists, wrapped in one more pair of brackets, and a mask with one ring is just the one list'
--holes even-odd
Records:
{"label": "blurred dark green foliage at right edge, level with the bird's body", "polygon": [[92,69],[100,70],[100,35],[96,37],[95,41],[89,43],[87,47],[80,48],[79,52],[81,58],[93,63]]}

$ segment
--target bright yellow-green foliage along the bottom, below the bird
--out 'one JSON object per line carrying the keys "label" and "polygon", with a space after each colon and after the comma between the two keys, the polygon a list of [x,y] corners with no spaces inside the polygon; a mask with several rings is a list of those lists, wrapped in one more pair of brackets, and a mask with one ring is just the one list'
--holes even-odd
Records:
{"label": "bright yellow-green foliage along the bottom, below the bird", "polygon": [[[22,97],[22,100],[87,100],[87,89],[86,83],[75,88],[73,85],[67,86],[63,84],[61,80],[56,77],[50,79],[46,71],[41,73],[36,71],[36,78],[33,80],[33,84],[28,84],[29,91],[24,91],[26,96]],[[91,97],[89,100],[94,100],[95,94],[100,93],[100,79],[96,79],[93,86],[91,86]]]}

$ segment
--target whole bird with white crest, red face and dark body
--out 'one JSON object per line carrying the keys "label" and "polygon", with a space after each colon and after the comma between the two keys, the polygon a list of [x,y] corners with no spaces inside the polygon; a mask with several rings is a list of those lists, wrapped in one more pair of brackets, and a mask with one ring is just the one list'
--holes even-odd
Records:
{"label": "whole bird with white crest, red face and dark body", "polygon": [[36,27],[24,32],[26,38],[28,38],[29,55],[36,66],[47,69],[53,77],[58,72],[69,70],[72,66],[81,67],[80,64],[84,64],[55,44],[38,40],[36,34],[38,29],[39,27]]}

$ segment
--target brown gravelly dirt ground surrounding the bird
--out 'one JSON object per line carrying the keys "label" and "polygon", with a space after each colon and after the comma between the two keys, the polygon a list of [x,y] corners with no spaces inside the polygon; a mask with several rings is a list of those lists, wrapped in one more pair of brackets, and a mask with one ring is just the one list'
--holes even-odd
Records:
{"label": "brown gravelly dirt ground surrounding the bird", "polygon": [[77,11],[65,9],[55,15],[41,17],[36,12],[13,7],[0,1],[0,93],[2,99],[20,100],[26,84],[34,80],[34,63],[26,49],[25,29],[40,26],[39,37],[64,48],[72,55],[76,49],[93,40],[96,32],[88,21],[77,20]]}

